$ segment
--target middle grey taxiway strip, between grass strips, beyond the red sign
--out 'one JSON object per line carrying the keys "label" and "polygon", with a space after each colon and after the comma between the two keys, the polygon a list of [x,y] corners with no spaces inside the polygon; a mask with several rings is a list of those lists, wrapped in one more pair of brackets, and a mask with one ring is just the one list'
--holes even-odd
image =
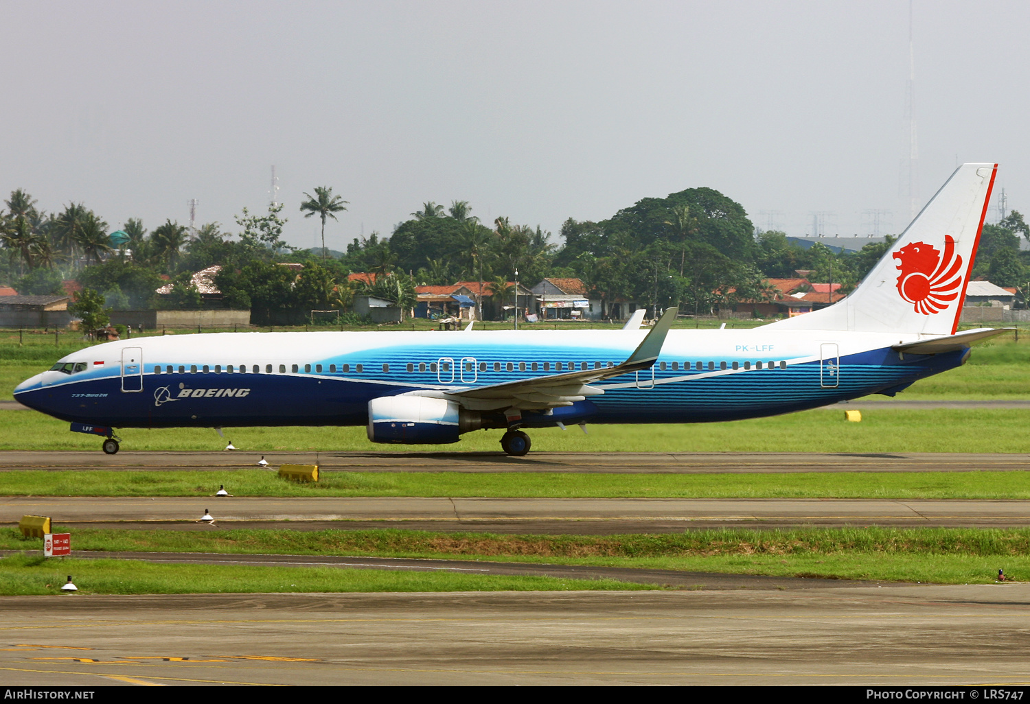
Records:
{"label": "middle grey taxiway strip, between grass strips, beyond the red sign", "polygon": [[[214,525],[200,522],[209,509]],[[682,532],[714,527],[1030,526],[1030,501],[982,499],[650,499],[475,497],[0,498],[0,523],[65,527],[407,528],[506,533]]]}

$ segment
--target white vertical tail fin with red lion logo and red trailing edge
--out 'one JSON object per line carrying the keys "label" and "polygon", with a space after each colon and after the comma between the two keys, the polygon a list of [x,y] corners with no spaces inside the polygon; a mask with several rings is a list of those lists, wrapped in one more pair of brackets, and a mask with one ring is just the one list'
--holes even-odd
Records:
{"label": "white vertical tail fin with red lion logo and red trailing edge", "polygon": [[771,326],[953,335],[997,164],[963,164],[843,301]]}

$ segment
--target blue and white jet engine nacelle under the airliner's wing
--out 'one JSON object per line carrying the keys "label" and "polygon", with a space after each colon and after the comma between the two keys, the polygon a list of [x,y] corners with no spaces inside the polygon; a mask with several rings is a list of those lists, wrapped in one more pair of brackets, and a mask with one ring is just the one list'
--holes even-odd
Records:
{"label": "blue and white jet engine nacelle under the airliner's wing", "polygon": [[373,443],[443,445],[478,430],[482,419],[456,401],[424,396],[383,396],[369,401],[369,439]]}

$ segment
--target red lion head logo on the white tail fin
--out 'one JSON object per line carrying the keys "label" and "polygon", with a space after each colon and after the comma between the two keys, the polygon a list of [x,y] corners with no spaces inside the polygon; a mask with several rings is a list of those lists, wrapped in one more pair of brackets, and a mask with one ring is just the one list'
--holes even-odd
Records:
{"label": "red lion head logo on the white tail fin", "polygon": [[898,293],[917,313],[930,315],[948,308],[959,296],[962,284],[962,257],[955,253],[955,240],[945,235],[945,254],[925,242],[913,242],[894,252],[897,266]]}

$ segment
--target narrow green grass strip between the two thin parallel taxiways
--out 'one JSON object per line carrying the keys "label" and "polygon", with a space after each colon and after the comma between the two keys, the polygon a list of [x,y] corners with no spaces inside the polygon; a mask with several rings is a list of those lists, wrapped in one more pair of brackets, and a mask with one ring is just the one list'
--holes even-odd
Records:
{"label": "narrow green grass strip between the two thin parallel taxiways", "polygon": [[[525,498],[1027,499],[1030,473],[799,472],[615,474],[558,472],[321,472],[317,484],[273,471],[0,471],[3,496],[436,496]],[[231,501],[231,499],[219,499]]]}

